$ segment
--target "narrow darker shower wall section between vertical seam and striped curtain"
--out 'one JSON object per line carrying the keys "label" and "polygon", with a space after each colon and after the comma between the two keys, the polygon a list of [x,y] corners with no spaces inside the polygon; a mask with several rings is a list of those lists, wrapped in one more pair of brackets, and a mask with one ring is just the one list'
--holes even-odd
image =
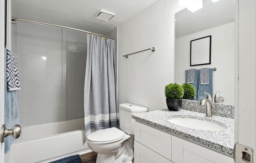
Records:
{"label": "narrow darker shower wall section between vertical seam and striped curtain", "polygon": [[67,30],[67,120],[84,118],[86,33]]}

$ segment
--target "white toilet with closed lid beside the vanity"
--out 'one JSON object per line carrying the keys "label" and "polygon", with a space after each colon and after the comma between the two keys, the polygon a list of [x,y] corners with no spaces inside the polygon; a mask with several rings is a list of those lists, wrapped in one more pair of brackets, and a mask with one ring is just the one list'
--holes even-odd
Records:
{"label": "white toilet with closed lid beside the vanity", "polygon": [[130,103],[119,105],[120,129],[109,128],[89,134],[86,138],[91,150],[98,153],[96,163],[132,163],[134,121],[132,115],[147,108]]}

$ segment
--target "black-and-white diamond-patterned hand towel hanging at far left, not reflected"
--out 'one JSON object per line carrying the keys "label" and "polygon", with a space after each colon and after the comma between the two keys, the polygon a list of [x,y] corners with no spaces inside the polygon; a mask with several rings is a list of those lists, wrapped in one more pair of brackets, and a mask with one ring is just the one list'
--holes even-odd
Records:
{"label": "black-and-white diamond-patterned hand towel hanging at far left, not reflected", "polygon": [[7,87],[9,91],[20,90],[20,80],[17,70],[17,62],[13,53],[6,47],[7,60],[6,60],[6,77]]}

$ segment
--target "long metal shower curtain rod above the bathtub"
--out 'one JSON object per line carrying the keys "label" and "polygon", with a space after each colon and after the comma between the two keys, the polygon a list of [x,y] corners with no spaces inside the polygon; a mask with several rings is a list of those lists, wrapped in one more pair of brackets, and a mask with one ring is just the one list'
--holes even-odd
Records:
{"label": "long metal shower curtain rod above the bathtub", "polygon": [[88,31],[83,31],[83,30],[80,30],[80,29],[70,28],[70,27],[66,27],[66,26],[62,26],[62,25],[55,25],[55,24],[49,24],[49,23],[44,23],[44,22],[37,22],[37,21],[33,21],[33,20],[26,20],[26,19],[14,18],[14,17],[11,18],[11,22],[13,22],[13,24],[16,24],[17,21],[29,22],[29,23],[35,23],[35,24],[42,24],[42,25],[49,25],[49,26],[52,26],[52,27],[60,27],[60,28],[64,28],[64,29],[70,29],[70,30],[73,30],[73,31],[79,31],[79,32],[88,33],[88,34],[95,34],[95,35],[97,35],[99,37],[102,36],[103,39],[106,39],[106,38],[113,39],[111,37],[103,36],[101,34],[92,33],[92,32],[88,32]]}

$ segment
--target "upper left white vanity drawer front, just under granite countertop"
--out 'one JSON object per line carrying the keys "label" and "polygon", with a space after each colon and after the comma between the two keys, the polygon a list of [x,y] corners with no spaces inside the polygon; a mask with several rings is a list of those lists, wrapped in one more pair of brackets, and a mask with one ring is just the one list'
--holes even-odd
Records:
{"label": "upper left white vanity drawer front, just under granite countertop", "polygon": [[172,160],[172,135],[135,121],[135,140]]}

